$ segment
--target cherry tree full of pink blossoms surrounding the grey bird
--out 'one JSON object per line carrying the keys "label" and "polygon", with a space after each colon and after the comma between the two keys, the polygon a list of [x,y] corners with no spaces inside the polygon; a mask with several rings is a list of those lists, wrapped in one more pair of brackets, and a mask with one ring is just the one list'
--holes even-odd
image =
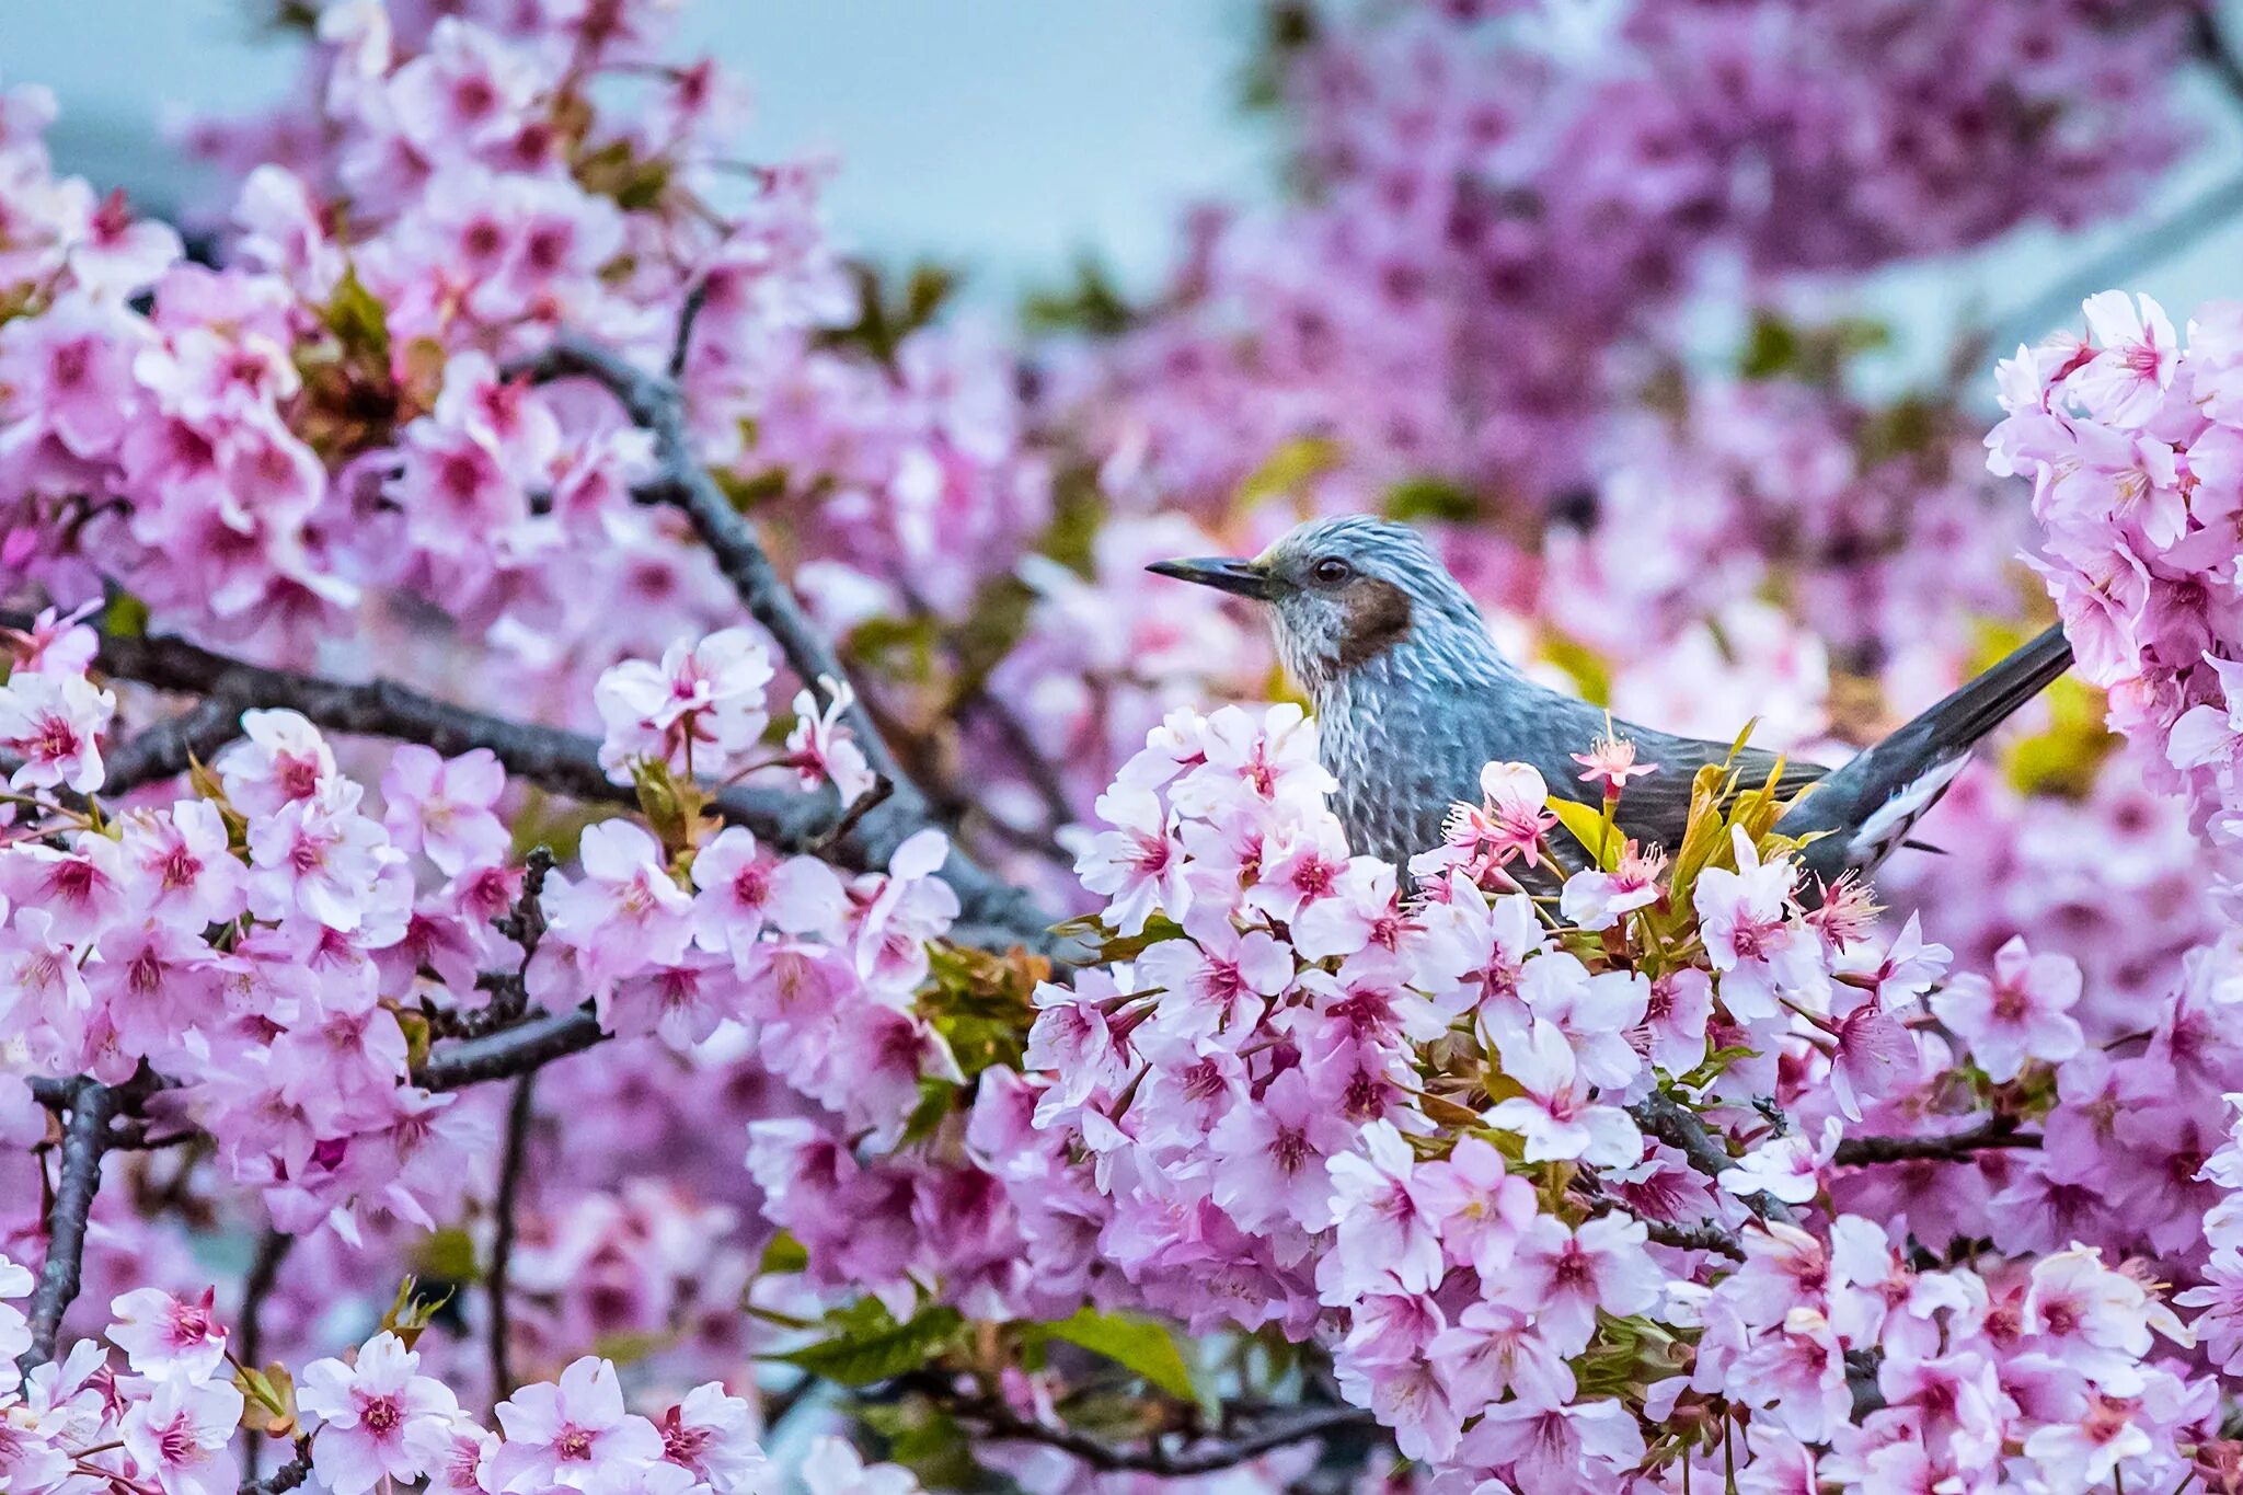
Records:
{"label": "cherry tree full of pink blossoms surrounding the grey bird", "polygon": [[[2243,72],[1561,9],[1270,7],[1301,191],[1014,341],[662,4],[289,11],[193,258],[4,94],[0,1488],[2243,1484],[2243,312],[1799,309]],[[2082,670],[1875,894],[1624,737],[1395,867],[1139,569],[1344,509],[1669,728]]]}

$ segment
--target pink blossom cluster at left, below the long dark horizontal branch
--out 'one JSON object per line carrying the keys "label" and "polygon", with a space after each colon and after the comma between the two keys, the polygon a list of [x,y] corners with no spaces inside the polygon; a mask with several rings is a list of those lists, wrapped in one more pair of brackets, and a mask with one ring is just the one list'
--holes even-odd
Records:
{"label": "pink blossom cluster at left, below the long dark horizontal branch", "polygon": [[[0,717],[34,722],[11,740],[20,782],[99,787],[112,699],[92,657],[85,625],[25,639],[0,686]],[[285,1231],[460,1213],[493,1139],[460,1096],[413,1080],[413,1036],[505,1000],[491,973],[677,1049],[749,1024],[776,1076],[875,1130],[899,1127],[922,1071],[947,1065],[911,1009],[926,941],[958,912],[935,832],[843,881],[740,825],[664,847],[599,820],[576,872],[543,879],[529,939],[507,923],[525,867],[489,751],[395,749],[377,811],[305,717],[249,711],[242,731],[200,793],[108,818],[34,800],[43,816],[0,847],[0,1038],[49,1076],[161,1076],[161,1105],[215,1139]]]}

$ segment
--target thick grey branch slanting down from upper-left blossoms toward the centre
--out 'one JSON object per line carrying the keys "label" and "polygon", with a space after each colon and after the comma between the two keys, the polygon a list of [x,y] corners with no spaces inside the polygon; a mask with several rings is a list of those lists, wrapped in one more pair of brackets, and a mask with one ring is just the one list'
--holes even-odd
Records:
{"label": "thick grey branch slanting down from upper-left blossoms toward the centre", "polygon": [[[740,518],[740,511],[731,507],[731,500],[709,475],[709,468],[693,455],[684,392],[675,379],[648,374],[624,359],[624,354],[585,338],[561,338],[543,354],[507,365],[507,374],[536,381],[581,377],[615,394],[633,424],[655,437],[659,475],[648,489],[662,493],[686,513],[702,545],[709,547],[711,558],[724,574],[724,581],[731,583],[740,605],[772,634],[787,666],[805,684],[848,679],[848,670],[841,668],[832,643],[810,621],[810,614],[803,612],[792,587],[787,587],[756,538],[756,529]],[[843,713],[843,722],[857,735],[857,746],[864,751],[866,764],[895,784],[888,800],[855,829],[864,861],[868,865],[886,865],[895,847],[904,845],[920,829],[940,827],[940,820],[926,793],[895,760],[861,693],[857,693],[855,704]],[[1018,944],[1045,955],[1056,950],[1056,941],[1050,935],[1054,919],[1036,908],[1027,890],[991,876],[956,847],[942,865],[942,879],[958,890],[964,919],[1016,928],[1021,930]]]}

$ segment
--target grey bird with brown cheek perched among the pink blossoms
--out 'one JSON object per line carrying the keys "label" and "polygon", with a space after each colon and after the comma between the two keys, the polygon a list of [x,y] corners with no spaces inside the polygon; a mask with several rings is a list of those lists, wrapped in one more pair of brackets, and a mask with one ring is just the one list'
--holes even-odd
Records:
{"label": "grey bird with brown cheek perched among the pink blossoms", "polygon": [[[1409,524],[1370,516],[1310,520],[1254,558],[1157,560],[1148,572],[1267,605],[1279,654],[1310,697],[1319,758],[1355,852],[1395,865],[1442,843],[1458,802],[1480,800],[1480,769],[1523,762],[1550,791],[1602,805],[1577,753],[1624,737],[1655,773],[1631,780],[1615,820],[1640,849],[1673,854],[1702,764],[1732,764],[1741,789],[1776,776],[1776,832],[1801,838],[1815,883],[1866,879],[1907,841],[1972,749],[2070,668],[2061,625],[1837,769],[1761,749],[1615,722],[1530,679],[1494,643],[1478,605]],[[1561,858],[1563,861],[1563,858]]]}

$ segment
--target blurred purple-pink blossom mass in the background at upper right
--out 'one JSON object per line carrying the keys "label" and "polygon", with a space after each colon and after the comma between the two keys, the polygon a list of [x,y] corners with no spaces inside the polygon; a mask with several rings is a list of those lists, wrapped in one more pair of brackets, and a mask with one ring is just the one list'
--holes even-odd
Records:
{"label": "blurred purple-pink blossom mass in the background at upper right", "polygon": [[1279,9],[1312,191],[1191,224],[1092,415],[1119,495],[1207,511],[1303,444],[1326,509],[1431,475],[1532,522],[1725,258],[1866,271],[2070,224],[2187,134],[2178,4]]}

